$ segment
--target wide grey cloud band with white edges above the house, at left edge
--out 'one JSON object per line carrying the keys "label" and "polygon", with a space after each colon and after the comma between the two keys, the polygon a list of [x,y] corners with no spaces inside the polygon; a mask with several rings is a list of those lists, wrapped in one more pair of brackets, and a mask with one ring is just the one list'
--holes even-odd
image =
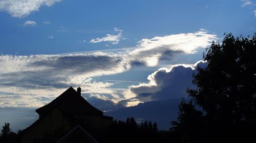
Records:
{"label": "wide grey cloud band with white edges above the house, at left edge", "polygon": [[[0,63],[5,67],[0,70],[0,81],[2,81],[0,84],[24,88],[64,88],[70,84],[83,83],[84,79],[90,77],[120,73],[129,68],[120,56],[102,52],[68,55],[1,55]],[[6,79],[9,81],[6,82]]]}

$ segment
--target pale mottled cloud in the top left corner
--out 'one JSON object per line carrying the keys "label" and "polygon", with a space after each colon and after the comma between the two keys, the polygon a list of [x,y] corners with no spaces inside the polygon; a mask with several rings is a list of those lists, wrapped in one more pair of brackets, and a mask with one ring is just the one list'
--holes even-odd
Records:
{"label": "pale mottled cloud in the top left corner", "polygon": [[2,0],[0,11],[9,13],[12,17],[26,17],[32,12],[39,11],[42,6],[50,7],[61,0]]}

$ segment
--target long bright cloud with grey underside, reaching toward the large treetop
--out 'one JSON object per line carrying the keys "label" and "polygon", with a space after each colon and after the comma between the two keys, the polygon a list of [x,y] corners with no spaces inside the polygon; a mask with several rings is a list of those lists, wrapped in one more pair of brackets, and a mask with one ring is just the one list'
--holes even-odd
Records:
{"label": "long bright cloud with grey underside, reaching toward the large treetop", "polygon": [[158,65],[159,60],[172,60],[177,53],[196,53],[197,48],[205,48],[217,39],[217,35],[208,34],[204,29],[195,33],[142,39],[137,48],[130,52],[130,57],[137,64],[153,67]]}

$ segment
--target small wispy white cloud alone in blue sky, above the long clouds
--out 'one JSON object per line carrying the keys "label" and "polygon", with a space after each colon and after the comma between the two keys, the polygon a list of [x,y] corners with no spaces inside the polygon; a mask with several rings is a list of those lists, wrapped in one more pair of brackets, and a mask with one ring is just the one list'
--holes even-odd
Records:
{"label": "small wispy white cloud alone in blue sky, above the long clouds", "polygon": [[114,28],[114,31],[119,32],[117,35],[107,34],[106,37],[92,39],[90,43],[99,43],[99,42],[112,42],[112,44],[118,44],[122,38],[122,30]]}

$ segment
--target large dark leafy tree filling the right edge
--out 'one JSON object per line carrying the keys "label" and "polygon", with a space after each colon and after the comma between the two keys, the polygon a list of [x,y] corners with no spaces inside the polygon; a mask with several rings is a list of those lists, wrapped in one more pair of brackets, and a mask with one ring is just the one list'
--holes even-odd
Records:
{"label": "large dark leafy tree filling the right edge", "polygon": [[256,134],[256,34],[225,35],[206,53],[206,68],[193,75],[197,89],[187,92],[205,112],[205,132],[212,142],[246,142]]}

